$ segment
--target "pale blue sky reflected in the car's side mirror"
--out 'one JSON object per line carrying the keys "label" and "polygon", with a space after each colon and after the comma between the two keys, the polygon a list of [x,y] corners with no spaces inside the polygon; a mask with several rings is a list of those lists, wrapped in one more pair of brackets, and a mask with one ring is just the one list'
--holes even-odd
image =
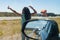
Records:
{"label": "pale blue sky reflected in the car's side mirror", "polygon": [[26,25],[27,29],[42,29],[43,27],[45,27],[45,25],[47,24],[46,20],[37,20],[37,21],[31,21],[28,22]]}

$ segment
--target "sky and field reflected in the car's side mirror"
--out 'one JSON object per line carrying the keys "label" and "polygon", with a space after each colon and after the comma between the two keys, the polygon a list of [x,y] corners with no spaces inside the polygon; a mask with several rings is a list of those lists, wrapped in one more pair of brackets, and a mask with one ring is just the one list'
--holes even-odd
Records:
{"label": "sky and field reflected in the car's side mirror", "polygon": [[25,27],[26,35],[32,38],[37,38],[38,36],[40,37],[37,32],[40,32],[40,30],[42,30],[47,23],[47,20],[35,20],[28,22]]}

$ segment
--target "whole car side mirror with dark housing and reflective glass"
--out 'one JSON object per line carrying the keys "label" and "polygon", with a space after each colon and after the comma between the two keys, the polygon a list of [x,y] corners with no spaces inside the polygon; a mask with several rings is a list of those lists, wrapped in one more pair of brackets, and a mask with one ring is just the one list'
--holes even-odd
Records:
{"label": "whole car side mirror with dark housing and reflective glass", "polygon": [[58,36],[59,33],[57,23],[52,20],[29,20],[24,25],[26,36],[33,39],[44,40],[52,37],[53,33],[54,36]]}

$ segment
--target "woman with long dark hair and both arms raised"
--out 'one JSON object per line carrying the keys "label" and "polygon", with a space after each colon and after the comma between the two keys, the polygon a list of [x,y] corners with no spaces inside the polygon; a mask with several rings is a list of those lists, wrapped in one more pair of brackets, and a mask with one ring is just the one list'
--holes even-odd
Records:
{"label": "woman with long dark hair and both arms raised", "polygon": [[[34,14],[37,13],[32,6],[29,6],[29,7],[34,11],[34,13],[32,13],[32,15],[34,15]],[[19,15],[19,16],[21,15],[21,16],[22,16],[22,25],[23,25],[23,23],[24,23],[26,20],[30,20],[30,19],[31,19],[31,13],[30,13],[30,11],[29,11],[29,9],[28,9],[27,7],[24,7],[24,8],[23,8],[22,14],[16,12],[16,11],[13,10],[12,8],[10,8],[9,6],[8,6],[8,9],[10,9],[11,11],[13,11],[13,12],[14,12],[15,14],[17,14],[17,15]],[[24,28],[24,27],[22,27],[22,28]],[[22,34],[22,40],[25,40],[25,36],[24,36],[23,34]],[[27,40],[29,40],[29,39],[27,38]]]}

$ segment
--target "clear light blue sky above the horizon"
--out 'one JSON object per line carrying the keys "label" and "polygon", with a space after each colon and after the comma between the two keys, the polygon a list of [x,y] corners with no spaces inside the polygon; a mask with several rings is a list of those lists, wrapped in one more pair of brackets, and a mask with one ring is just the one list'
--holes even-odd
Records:
{"label": "clear light blue sky above the horizon", "polygon": [[[0,0],[0,12],[12,12],[7,9],[7,7],[10,6],[17,12],[22,13],[22,9],[30,5],[34,7],[38,13],[46,9],[47,12],[60,14],[60,0]],[[33,10],[30,9],[30,12],[33,12]]]}

